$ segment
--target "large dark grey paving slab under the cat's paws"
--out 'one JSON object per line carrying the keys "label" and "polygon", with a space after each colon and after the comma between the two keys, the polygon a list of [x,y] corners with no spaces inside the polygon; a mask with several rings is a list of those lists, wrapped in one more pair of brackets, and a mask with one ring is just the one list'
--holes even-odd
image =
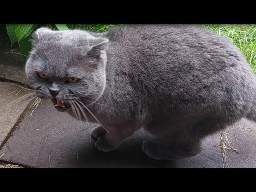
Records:
{"label": "large dark grey paving slab under the cat's paws", "polygon": [[218,134],[204,141],[204,150],[200,155],[173,163],[154,160],[142,152],[142,141],[153,139],[143,130],[112,152],[98,151],[90,136],[95,126],[60,113],[51,102],[43,101],[31,118],[26,116],[23,119],[0,150],[0,155],[4,154],[1,160],[38,168],[222,167]]}

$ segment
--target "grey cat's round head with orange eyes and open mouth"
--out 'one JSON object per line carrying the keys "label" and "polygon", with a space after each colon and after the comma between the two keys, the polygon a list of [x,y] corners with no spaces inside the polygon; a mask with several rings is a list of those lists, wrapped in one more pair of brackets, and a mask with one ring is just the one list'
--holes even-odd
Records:
{"label": "grey cat's round head with orange eyes and open mouth", "polygon": [[74,100],[96,101],[106,84],[108,39],[82,30],[34,32],[26,76],[41,98],[67,109]]}

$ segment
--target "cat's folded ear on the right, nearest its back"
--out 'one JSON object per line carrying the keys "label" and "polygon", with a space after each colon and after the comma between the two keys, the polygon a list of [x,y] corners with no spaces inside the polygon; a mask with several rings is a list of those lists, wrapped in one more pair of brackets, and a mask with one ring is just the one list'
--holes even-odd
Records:
{"label": "cat's folded ear on the right, nearest its back", "polygon": [[94,58],[100,57],[100,51],[108,49],[108,39],[107,38],[95,38],[95,45],[88,50],[87,55]]}

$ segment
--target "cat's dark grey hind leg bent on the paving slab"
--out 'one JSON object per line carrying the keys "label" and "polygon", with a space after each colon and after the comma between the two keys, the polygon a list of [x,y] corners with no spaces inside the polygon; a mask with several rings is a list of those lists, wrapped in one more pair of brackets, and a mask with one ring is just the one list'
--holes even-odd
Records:
{"label": "cat's dark grey hind leg bent on the paving slab", "polygon": [[159,142],[143,142],[142,150],[150,157],[177,160],[196,156],[201,151],[201,140],[228,124],[222,119],[205,119],[194,125],[173,125],[171,122],[153,122],[146,128]]}

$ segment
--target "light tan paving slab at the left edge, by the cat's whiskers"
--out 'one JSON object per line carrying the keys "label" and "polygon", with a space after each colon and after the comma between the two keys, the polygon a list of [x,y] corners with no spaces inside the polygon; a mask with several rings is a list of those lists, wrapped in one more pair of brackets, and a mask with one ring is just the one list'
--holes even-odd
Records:
{"label": "light tan paving slab at the left edge, by the cat's whiskers", "polygon": [[0,148],[11,130],[24,115],[29,102],[28,99],[25,99],[10,106],[8,104],[31,92],[31,90],[21,86],[0,82]]}

